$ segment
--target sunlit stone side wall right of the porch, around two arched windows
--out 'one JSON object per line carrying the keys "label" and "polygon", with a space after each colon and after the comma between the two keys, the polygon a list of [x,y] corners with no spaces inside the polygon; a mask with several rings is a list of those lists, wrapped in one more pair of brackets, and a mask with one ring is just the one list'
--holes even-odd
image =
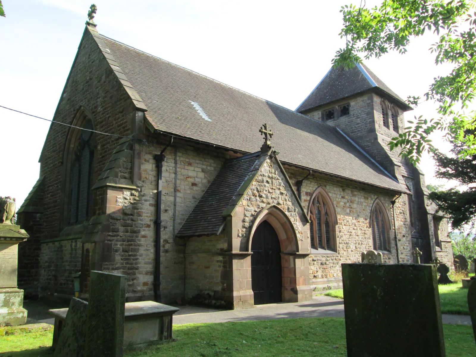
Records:
{"label": "sunlit stone side wall right of the porch, around two arched windows", "polygon": [[[286,167],[286,170],[293,184],[307,175],[307,171],[302,169]],[[342,277],[340,264],[360,262],[360,253],[373,249],[369,219],[372,205],[377,198],[387,208],[387,215],[392,227],[389,232],[392,254],[384,255],[384,261],[396,263],[393,217],[390,204],[390,201],[395,197],[378,188],[313,173],[304,180],[302,185],[301,197],[305,209],[308,208],[312,193],[321,186],[327,191],[336,208],[338,244],[337,253],[318,253],[309,256],[311,285],[327,288],[327,285],[337,284]],[[297,186],[295,186],[295,189],[297,190]],[[395,216],[400,262],[410,262],[411,242],[405,196],[397,200]]]}

